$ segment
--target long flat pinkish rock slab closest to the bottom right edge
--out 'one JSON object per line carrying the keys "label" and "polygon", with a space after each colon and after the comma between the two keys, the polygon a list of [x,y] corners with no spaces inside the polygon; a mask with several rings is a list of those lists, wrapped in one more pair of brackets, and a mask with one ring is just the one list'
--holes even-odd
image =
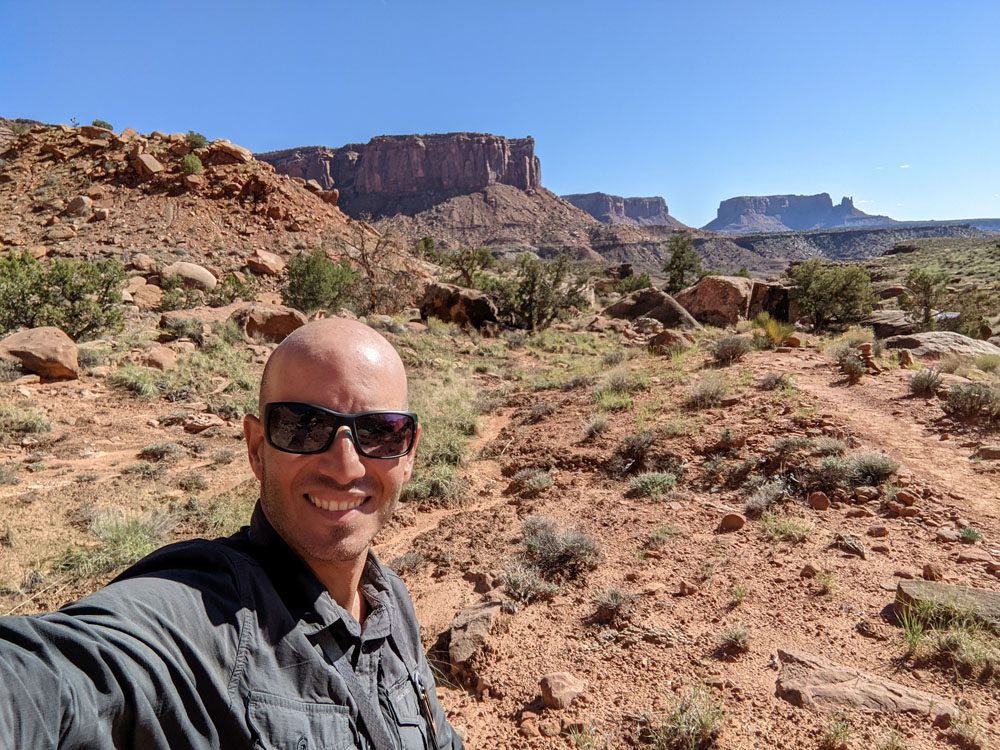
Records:
{"label": "long flat pinkish rock slab closest to the bottom right edge", "polygon": [[[911,581],[901,581],[912,583]],[[781,672],[777,697],[814,711],[856,709],[868,713],[931,716],[935,721],[957,713],[954,703],[923,690],[827,661],[819,656],[778,650]]]}

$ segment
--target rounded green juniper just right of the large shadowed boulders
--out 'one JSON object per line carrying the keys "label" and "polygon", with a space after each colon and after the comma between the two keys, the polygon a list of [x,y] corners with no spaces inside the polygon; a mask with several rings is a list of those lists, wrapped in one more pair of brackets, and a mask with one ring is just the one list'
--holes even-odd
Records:
{"label": "rounded green juniper just right of the large shadowed boulders", "polygon": [[871,312],[871,277],[861,266],[811,258],[789,268],[787,274],[795,284],[792,300],[817,329],[832,320],[853,322]]}

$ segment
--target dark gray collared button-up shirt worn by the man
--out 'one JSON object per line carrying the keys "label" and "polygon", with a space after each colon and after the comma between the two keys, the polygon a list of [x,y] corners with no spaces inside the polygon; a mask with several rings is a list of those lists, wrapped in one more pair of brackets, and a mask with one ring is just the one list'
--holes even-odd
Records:
{"label": "dark gray collared button-up shirt worn by the man", "polygon": [[402,580],[369,554],[361,588],[363,627],[258,505],[228,539],[0,618],[0,747],[461,750]]}

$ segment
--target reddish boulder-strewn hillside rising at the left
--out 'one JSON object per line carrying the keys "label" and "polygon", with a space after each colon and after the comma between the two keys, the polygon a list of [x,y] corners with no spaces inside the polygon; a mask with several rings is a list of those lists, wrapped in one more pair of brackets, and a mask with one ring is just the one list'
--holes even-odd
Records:
{"label": "reddish boulder-strewn hillside rising at the left", "polygon": [[0,145],[0,242],[38,257],[142,252],[234,270],[258,250],[335,249],[370,232],[332,200],[225,140],[34,125]]}

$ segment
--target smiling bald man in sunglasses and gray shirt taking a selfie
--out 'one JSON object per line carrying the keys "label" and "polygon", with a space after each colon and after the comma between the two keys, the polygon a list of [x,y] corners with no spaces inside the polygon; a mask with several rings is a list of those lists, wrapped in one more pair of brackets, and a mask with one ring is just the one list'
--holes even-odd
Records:
{"label": "smiling bald man in sunglasses and gray shirt taking a selfie", "polygon": [[244,435],[260,501],[59,612],[0,619],[0,747],[460,749],[402,581],[370,551],[420,439],[360,323],[292,333]]}

